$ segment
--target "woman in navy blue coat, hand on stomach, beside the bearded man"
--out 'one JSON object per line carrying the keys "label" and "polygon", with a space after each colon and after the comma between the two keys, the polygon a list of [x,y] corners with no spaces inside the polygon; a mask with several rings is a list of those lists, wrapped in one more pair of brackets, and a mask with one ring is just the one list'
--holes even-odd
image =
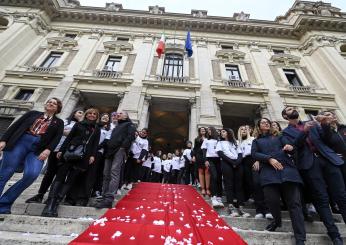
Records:
{"label": "woman in navy blue coat, hand on stomach, beside the bearded man", "polygon": [[281,227],[280,193],[288,206],[296,244],[304,244],[306,239],[304,216],[300,200],[300,185],[303,183],[297,167],[288,152],[293,147],[285,142],[277,131],[272,130],[271,122],[262,118],[257,122],[257,138],[252,142],[252,157],[259,161],[259,172],[264,197],[274,221],[266,228],[275,231]]}

